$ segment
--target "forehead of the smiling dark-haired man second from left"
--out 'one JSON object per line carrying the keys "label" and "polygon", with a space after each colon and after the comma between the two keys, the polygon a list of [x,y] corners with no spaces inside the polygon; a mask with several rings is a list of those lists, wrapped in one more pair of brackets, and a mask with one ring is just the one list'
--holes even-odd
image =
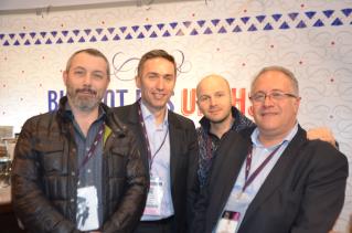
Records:
{"label": "forehead of the smiling dark-haired man second from left", "polygon": [[142,72],[174,75],[174,65],[163,57],[154,57],[145,62]]}

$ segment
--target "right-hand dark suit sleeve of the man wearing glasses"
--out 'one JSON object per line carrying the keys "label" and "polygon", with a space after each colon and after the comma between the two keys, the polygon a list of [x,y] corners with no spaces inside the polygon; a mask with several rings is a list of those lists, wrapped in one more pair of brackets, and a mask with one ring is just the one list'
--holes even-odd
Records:
{"label": "right-hand dark suit sleeve of the man wearing glasses", "polygon": [[311,142],[314,166],[309,174],[292,233],[329,232],[344,202],[348,160],[327,142]]}

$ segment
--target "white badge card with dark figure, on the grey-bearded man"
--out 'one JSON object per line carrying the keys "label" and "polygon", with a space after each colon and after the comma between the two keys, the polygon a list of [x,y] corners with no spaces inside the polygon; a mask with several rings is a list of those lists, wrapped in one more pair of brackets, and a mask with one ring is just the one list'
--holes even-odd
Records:
{"label": "white badge card with dark figure, on the grey-bearded man", "polygon": [[95,187],[77,189],[77,229],[90,231],[99,227],[98,221],[98,197]]}

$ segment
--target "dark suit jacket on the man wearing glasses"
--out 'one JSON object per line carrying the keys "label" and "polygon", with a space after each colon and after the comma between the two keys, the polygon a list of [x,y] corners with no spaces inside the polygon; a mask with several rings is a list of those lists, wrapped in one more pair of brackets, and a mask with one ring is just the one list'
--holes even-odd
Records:
{"label": "dark suit jacket on the man wearing glasses", "polygon": [[[253,130],[253,129],[252,129]],[[252,130],[222,141],[206,187],[195,206],[194,232],[210,233],[245,162]],[[326,233],[344,201],[345,156],[299,127],[249,204],[238,233]]]}

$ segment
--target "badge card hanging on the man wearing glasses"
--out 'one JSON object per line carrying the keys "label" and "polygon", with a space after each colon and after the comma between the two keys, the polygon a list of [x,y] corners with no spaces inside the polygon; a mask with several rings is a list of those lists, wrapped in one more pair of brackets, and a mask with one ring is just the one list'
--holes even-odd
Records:
{"label": "badge card hanging on the man wearing glasses", "polygon": [[225,210],[216,225],[215,233],[236,232],[241,213]]}

